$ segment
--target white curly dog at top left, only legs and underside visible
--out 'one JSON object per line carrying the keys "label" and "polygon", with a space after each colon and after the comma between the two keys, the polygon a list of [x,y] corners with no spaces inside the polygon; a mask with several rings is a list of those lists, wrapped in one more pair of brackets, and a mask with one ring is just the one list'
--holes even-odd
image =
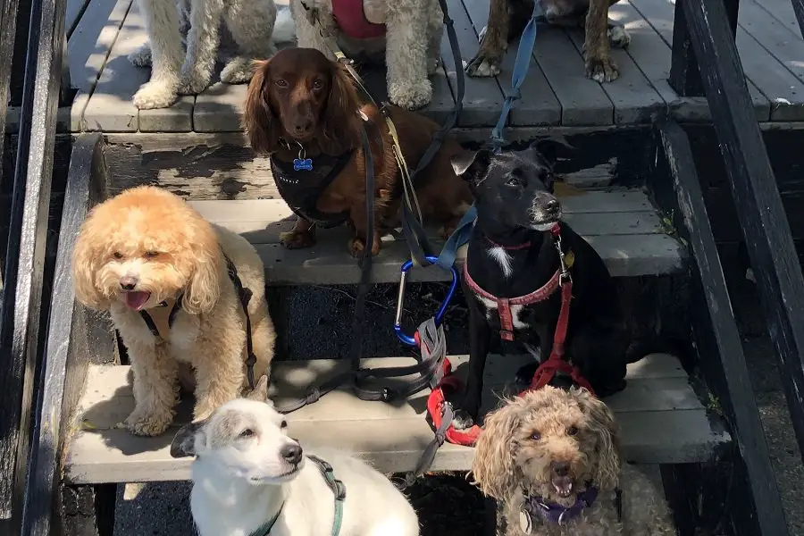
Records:
{"label": "white curly dog at top left, only legs and underside visible", "polygon": [[[239,84],[251,80],[252,62],[276,51],[274,38],[293,38],[292,21],[285,13],[280,29],[273,0],[138,0],[145,17],[148,42],[129,60],[151,65],[151,80],[133,97],[139,109],[165,108],[179,95],[204,91],[212,80],[221,23],[236,44],[237,54],[221,71],[221,80]],[[182,45],[187,34],[186,51]],[[228,36],[227,36],[228,37]]]}

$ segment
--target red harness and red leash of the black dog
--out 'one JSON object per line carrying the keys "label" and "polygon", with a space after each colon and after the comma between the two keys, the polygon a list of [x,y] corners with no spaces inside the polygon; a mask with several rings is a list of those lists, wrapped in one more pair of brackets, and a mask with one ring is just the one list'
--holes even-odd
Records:
{"label": "red harness and red leash of the black dog", "polygon": [[[541,389],[547,385],[558,372],[568,374],[573,379],[575,384],[589,389],[589,391],[594,394],[589,381],[586,381],[586,379],[582,376],[578,367],[569,364],[564,360],[564,342],[566,339],[567,325],[569,324],[570,302],[573,299],[573,280],[570,276],[570,273],[567,271],[564,262],[564,252],[561,250],[561,228],[558,226],[558,224],[556,224],[550,231],[556,240],[558,255],[561,259],[561,266],[557,270],[556,274],[550,278],[550,281],[548,281],[540,289],[535,290],[530,294],[526,294],[525,296],[502,298],[491,295],[489,292],[483,290],[475,281],[473,281],[473,279],[469,276],[469,271],[466,268],[466,264],[464,265],[464,278],[466,283],[469,285],[469,288],[472,289],[473,292],[476,292],[478,295],[497,303],[500,320],[500,337],[506,340],[514,339],[514,322],[513,315],[511,314],[511,306],[524,306],[543,301],[550,297],[553,292],[560,287],[561,309],[558,312],[556,332],[553,334],[553,349],[550,352],[549,358],[542,362],[539,365],[539,368],[536,370],[536,373],[533,374],[530,387],[528,387],[528,389],[524,389],[519,396],[522,396],[524,393],[532,389]],[[452,365],[449,363],[449,360],[446,357],[444,358],[444,375],[435,389],[432,389],[430,397],[427,398],[427,412],[430,414],[430,418],[436,430],[439,430],[441,423],[443,423],[443,412],[445,407],[448,405],[447,398],[444,394],[445,389],[448,391],[458,391],[461,389],[461,381],[456,376],[452,375]],[[481,427],[477,424],[467,431],[457,431],[450,423],[447,431],[444,434],[444,439],[448,440],[450,443],[464,445],[465,447],[472,447],[477,441],[477,438],[480,436],[481,431]]]}

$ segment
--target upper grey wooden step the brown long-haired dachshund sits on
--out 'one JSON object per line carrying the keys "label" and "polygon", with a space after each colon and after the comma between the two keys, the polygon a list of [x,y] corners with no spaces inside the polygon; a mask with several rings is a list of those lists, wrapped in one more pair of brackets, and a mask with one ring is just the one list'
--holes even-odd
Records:
{"label": "upper grey wooden step the brown long-haired dachshund sits on", "polygon": [[[597,249],[616,277],[656,275],[683,270],[684,251],[666,234],[662,219],[648,197],[637,189],[583,190],[565,188],[559,194],[565,221]],[[348,230],[341,226],[318,231],[318,243],[288,250],[279,236],[296,221],[280,199],[190,201],[210,222],[243,234],[265,264],[269,285],[353,284],[360,278],[356,260],[348,253]],[[434,238],[434,243],[443,244]],[[463,261],[465,247],[459,252]],[[399,266],[409,258],[400,232],[382,238],[382,250],[373,263],[374,282],[396,282]],[[448,281],[437,269],[415,270],[411,281]]]}

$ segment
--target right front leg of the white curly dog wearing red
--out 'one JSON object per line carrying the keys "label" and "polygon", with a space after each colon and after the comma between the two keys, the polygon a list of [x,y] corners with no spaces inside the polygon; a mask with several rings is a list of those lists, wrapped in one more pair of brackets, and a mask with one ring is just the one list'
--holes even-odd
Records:
{"label": "right front leg of the white curly dog wearing red", "polygon": [[427,78],[427,0],[388,3],[385,64],[390,102],[416,110],[430,103],[432,84]]}

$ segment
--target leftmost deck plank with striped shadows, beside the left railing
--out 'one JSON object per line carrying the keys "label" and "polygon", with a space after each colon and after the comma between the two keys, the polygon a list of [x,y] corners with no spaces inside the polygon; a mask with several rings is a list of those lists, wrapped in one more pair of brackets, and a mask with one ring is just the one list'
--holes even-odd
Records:
{"label": "leftmost deck plank with striped shadows, beside the left railing", "polygon": [[86,130],[84,111],[104,69],[106,57],[114,45],[120,27],[129,13],[131,0],[96,2],[72,32],[67,42],[70,80],[78,94],[72,101],[70,130]]}

